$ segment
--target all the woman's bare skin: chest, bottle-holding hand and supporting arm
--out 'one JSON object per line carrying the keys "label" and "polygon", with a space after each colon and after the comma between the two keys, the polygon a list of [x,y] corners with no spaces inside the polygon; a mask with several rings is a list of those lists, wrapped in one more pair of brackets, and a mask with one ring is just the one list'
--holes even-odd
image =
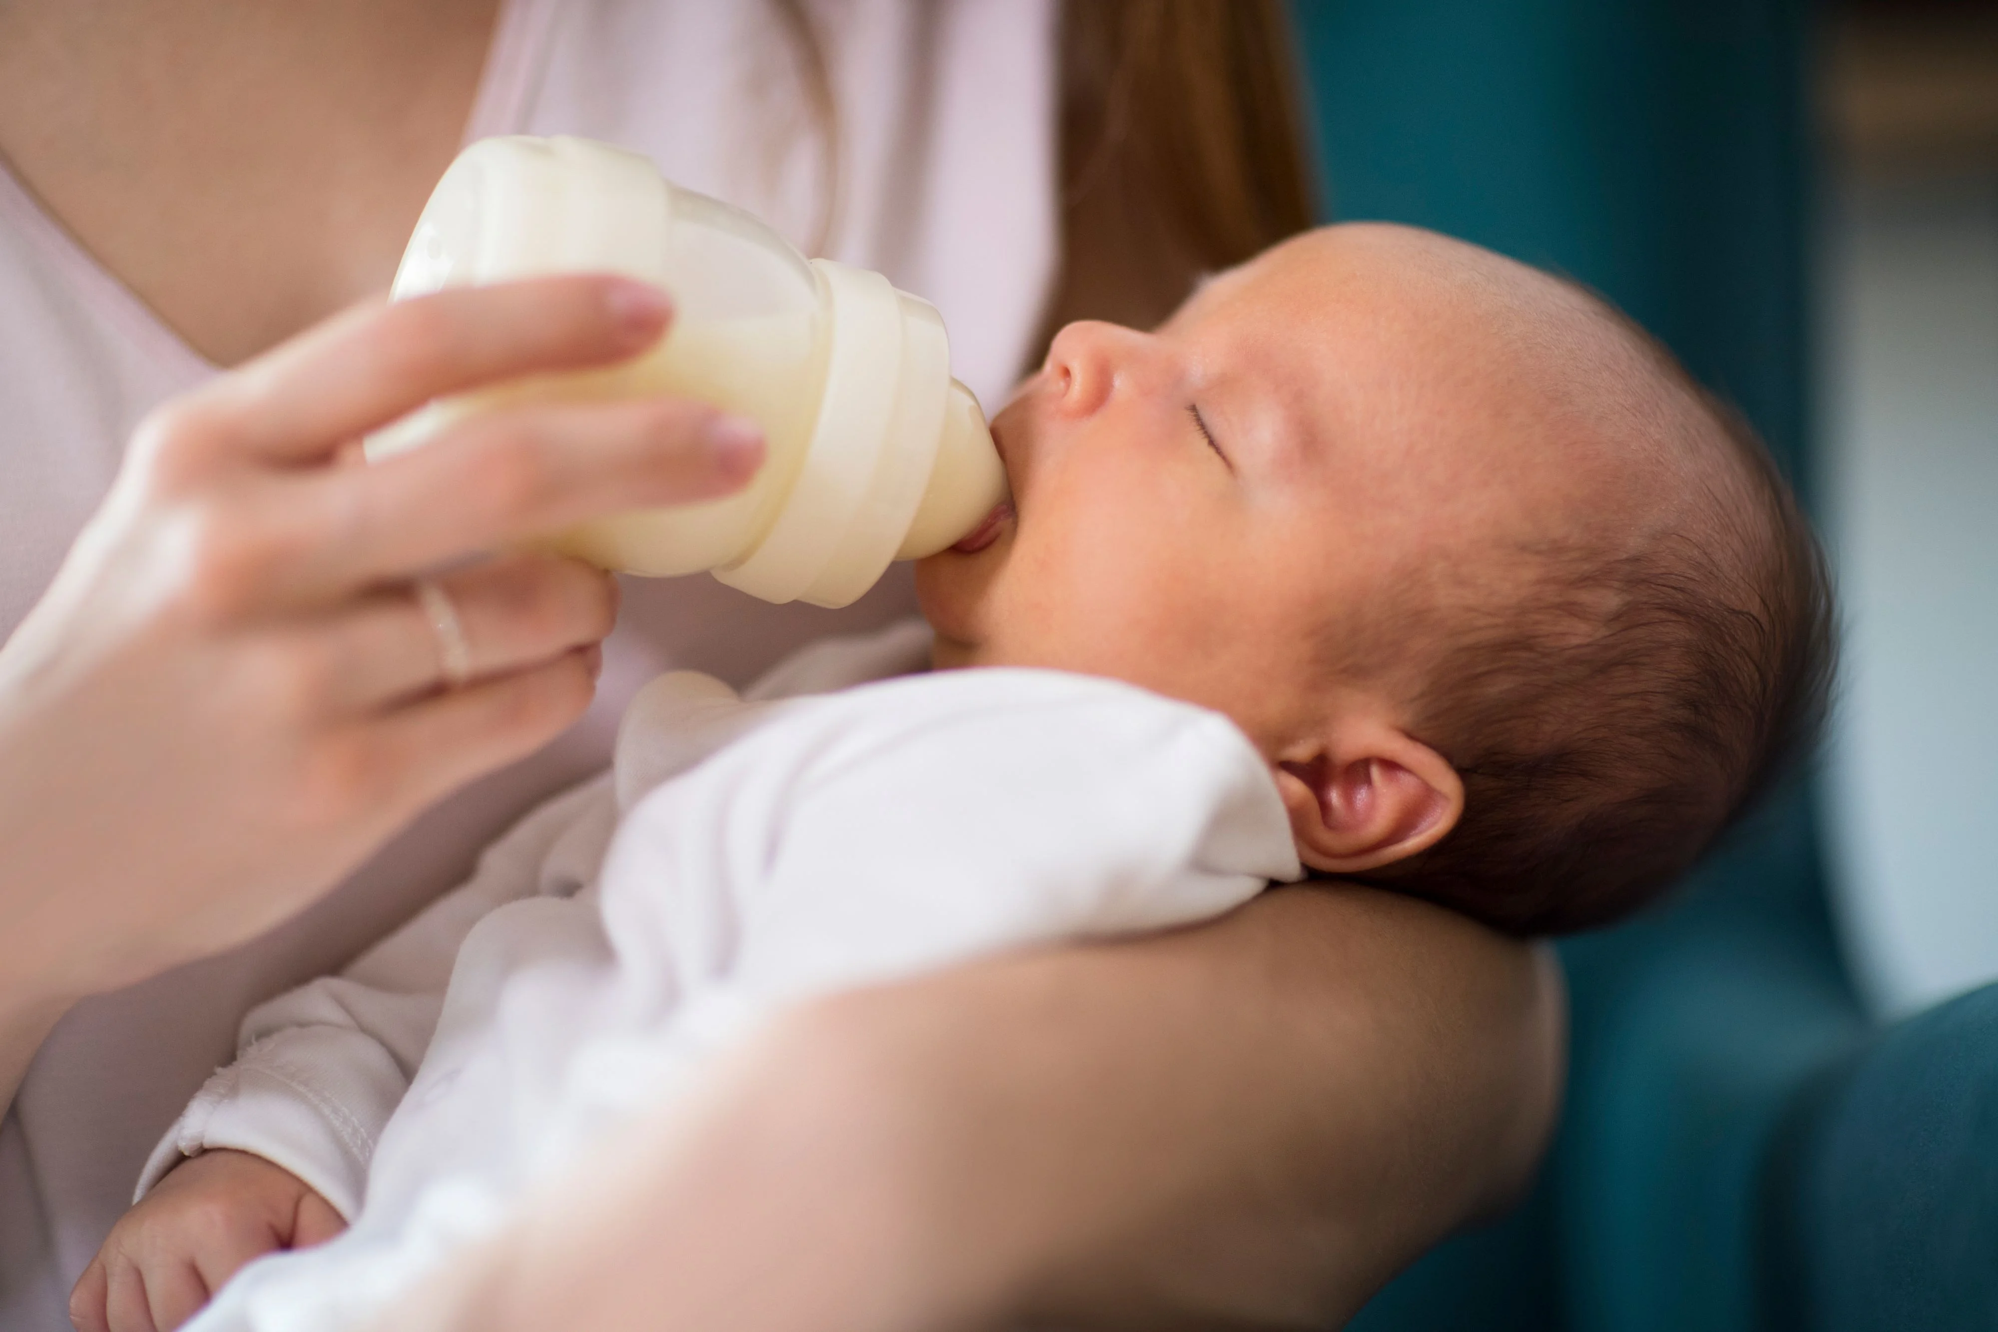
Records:
{"label": "all the woman's bare skin: chest, bottle-holding hand and supporting arm", "polygon": [[[168,326],[238,363],[388,286],[494,8],[0,0],[0,154]],[[400,467],[346,467],[340,445],[446,387],[627,353],[661,318],[599,280],[364,310],[148,423],[0,657],[8,1088],[80,995],[302,909],[581,709],[597,575],[454,575],[488,679],[442,697],[422,691],[428,623],[380,585],[619,487],[715,493],[741,441],[649,403],[519,415]],[[496,455],[511,479],[468,507]],[[272,521],[300,501],[310,545]],[[336,687],[360,661],[368,687]],[[246,703],[224,677],[260,683]],[[230,835],[204,837],[222,809]],[[100,811],[122,837],[78,847]],[[821,1332],[1343,1316],[1526,1178],[1558,1024],[1534,951],[1347,889],[837,999],[747,1048],[703,1110],[645,1126],[635,1164],[448,1272],[424,1314]]]}

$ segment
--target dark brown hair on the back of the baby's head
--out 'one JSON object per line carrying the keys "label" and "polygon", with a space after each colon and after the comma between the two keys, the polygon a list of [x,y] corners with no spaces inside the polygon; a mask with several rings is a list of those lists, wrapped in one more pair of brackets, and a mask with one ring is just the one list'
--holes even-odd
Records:
{"label": "dark brown hair on the back of the baby's head", "polygon": [[1411,733],[1463,777],[1463,817],[1359,875],[1512,935],[1604,925],[1670,887],[1814,747],[1834,669],[1824,553],[1768,449],[1598,306],[1724,453],[1716,521],[1634,551],[1520,549],[1524,593],[1455,607]]}

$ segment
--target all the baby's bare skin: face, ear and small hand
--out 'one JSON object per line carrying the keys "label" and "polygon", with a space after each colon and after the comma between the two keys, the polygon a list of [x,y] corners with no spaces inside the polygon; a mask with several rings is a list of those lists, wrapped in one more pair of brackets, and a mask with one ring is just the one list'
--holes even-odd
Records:
{"label": "all the baby's bare skin: face, ear and small hand", "polygon": [[[1692,411],[1654,379],[1582,294],[1393,226],[1301,236],[1153,333],[1071,324],[993,421],[1013,501],[917,567],[937,667],[1109,675],[1225,713],[1305,865],[1411,857],[1465,785],[1411,735],[1421,661],[1369,651],[1383,617],[1425,571],[1504,597],[1495,553],[1536,533],[1614,551],[1712,521],[1718,453],[1614,427]],[[72,1318],[168,1332],[242,1264],[340,1228],[262,1158],[196,1156],[118,1222]]]}

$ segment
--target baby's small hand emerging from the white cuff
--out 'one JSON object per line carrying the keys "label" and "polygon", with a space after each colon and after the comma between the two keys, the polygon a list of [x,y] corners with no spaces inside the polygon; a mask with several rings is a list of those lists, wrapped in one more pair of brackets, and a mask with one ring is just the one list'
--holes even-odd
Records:
{"label": "baby's small hand emerging from the white cuff", "polygon": [[118,1218],[70,1292],[70,1322],[172,1332],[252,1258],[342,1230],[340,1212],[290,1170],[250,1152],[202,1152]]}

